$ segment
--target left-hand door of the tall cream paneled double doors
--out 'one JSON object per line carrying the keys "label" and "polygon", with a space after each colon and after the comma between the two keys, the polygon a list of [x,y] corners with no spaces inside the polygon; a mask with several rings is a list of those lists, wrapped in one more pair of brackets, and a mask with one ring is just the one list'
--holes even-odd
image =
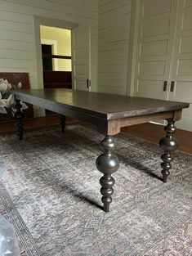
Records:
{"label": "left-hand door of the tall cream paneled double doors", "polygon": [[[176,0],[141,0],[135,96],[167,99]],[[168,85],[168,84],[167,84]]]}

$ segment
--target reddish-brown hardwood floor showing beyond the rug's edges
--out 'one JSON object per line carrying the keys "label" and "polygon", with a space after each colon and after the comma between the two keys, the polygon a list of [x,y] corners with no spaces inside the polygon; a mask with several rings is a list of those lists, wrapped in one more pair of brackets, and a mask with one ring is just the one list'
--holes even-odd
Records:
{"label": "reddish-brown hardwood floor showing beyond the rug's edges", "polygon": [[[67,124],[76,122],[74,119],[66,119]],[[24,121],[25,129],[47,127],[55,124],[60,124],[60,115],[47,115],[36,119],[28,119]],[[10,132],[16,130],[16,123],[0,124],[0,132]],[[152,141],[159,144],[160,138],[164,137],[165,132],[163,126],[158,124],[136,124],[127,128],[122,128],[122,132],[131,134],[132,136],[141,137],[147,141]],[[174,134],[180,141],[179,150],[192,155],[192,132],[178,129]]]}

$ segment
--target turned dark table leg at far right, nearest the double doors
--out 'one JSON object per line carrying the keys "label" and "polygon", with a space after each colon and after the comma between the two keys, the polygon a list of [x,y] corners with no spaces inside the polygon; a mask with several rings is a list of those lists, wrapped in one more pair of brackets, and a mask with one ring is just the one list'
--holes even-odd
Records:
{"label": "turned dark table leg at far right, nearest the double doors", "polygon": [[167,177],[169,176],[169,170],[172,168],[172,152],[176,150],[178,146],[178,141],[173,137],[173,132],[176,132],[176,127],[174,125],[173,119],[167,119],[167,126],[164,128],[164,131],[167,133],[166,137],[163,137],[159,141],[159,146],[164,150],[164,154],[161,156],[163,163],[161,164],[163,182],[167,182]]}

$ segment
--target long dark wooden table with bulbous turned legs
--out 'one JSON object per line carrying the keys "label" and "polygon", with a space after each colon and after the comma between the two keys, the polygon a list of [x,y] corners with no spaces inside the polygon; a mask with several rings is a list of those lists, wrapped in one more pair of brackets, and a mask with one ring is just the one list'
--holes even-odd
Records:
{"label": "long dark wooden table with bulbous turned legs", "polygon": [[176,131],[175,121],[181,119],[183,108],[188,108],[189,103],[175,101],[160,101],[141,97],[125,97],[98,92],[83,92],[69,89],[32,89],[12,90],[16,97],[16,119],[19,138],[23,138],[23,113],[20,110],[20,101],[25,101],[44,109],[63,115],[62,129],[65,130],[65,115],[87,123],[95,124],[97,131],[105,136],[100,142],[104,153],[96,159],[96,168],[103,173],[100,178],[101,201],[105,212],[109,211],[114,190],[114,177],[112,173],[118,170],[118,157],[114,154],[113,136],[120,132],[122,127],[132,124],[141,124],[160,119],[167,120],[164,128],[166,136],[159,141],[164,154],[161,156],[163,163],[163,182],[172,168],[172,152],[176,150],[178,141],[172,136]]}

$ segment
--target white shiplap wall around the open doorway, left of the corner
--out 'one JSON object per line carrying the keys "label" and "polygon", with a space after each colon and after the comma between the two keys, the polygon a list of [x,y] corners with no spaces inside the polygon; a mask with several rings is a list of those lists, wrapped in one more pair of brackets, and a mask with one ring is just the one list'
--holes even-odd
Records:
{"label": "white shiplap wall around the open doorway, left of the corner", "polygon": [[[97,74],[97,0],[0,0],[0,72],[29,72],[31,87],[38,84],[34,16],[91,24],[92,89]],[[45,24],[43,24],[45,25]]]}

